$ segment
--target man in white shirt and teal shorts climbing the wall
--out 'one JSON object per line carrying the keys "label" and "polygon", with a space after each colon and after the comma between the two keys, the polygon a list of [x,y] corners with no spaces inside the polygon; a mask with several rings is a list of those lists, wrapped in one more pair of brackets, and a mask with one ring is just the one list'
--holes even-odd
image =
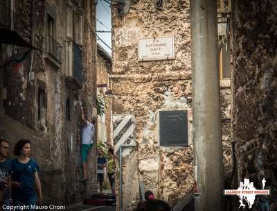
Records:
{"label": "man in white shirt and teal shorts climbing the wall", "polygon": [[84,110],[81,106],[81,117],[84,121],[84,128],[82,129],[82,146],[81,146],[81,156],[82,156],[82,171],[84,178],[80,182],[87,183],[87,156],[89,155],[89,150],[93,146],[93,135],[95,133],[94,124],[96,123],[95,117],[84,118]]}

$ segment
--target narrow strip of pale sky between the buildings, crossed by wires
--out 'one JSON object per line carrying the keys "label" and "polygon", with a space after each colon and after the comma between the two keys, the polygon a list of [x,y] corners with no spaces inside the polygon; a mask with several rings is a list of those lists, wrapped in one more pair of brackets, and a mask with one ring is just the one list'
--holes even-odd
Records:
{"label": "narrow strip of pale sky between the buildings, crossed by wires", "polygon": [[[109,7],[109,0],[96,0],[96,31],[111,31],[111,8]],[[109,1],[110,2],[110,1]],[[102,24],[100,24],[100,22]],[[103,40],[109,47],[111,47],[111,33],[100,33],[98,32],[97,35]],[[111,49],[107,47],[102,41],[97,39],[97,43],[100,44],[105,51],[111,55]]]}

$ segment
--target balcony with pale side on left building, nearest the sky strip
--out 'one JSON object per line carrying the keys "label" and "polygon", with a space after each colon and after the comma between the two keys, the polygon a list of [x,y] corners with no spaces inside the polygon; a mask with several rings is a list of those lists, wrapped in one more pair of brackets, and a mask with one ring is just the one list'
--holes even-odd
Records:
{"label": "balcony with pale side on left building, nearest the sky strip", "polygon": [[82,50],[75,42],[66,42],[66,78],[65,82],[73,90],[82,88]]}

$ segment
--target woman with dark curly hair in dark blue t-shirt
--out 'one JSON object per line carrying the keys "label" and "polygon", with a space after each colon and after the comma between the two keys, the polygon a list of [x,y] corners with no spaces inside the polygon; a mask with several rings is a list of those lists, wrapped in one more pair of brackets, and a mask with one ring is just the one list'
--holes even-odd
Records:
{"label": "woman with dark curly hair in dark blue t-shirt", "polygon": [[[30,159],[30,141],[19,140],[15,144],[15,160],[12,160],[12,199],[14,205],[28,205],[28,210],[35,210],[35,205],[42,204],[42,185],[39,180],[39,166]],[[34,185],[38,192],[38,199]]]}

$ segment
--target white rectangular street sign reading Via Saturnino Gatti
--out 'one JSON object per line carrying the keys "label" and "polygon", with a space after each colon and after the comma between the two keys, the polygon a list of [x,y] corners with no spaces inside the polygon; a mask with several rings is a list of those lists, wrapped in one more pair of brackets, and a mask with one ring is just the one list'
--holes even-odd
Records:
{"label": "white rectangular street sign reading Via Saturnino Gatti", "polygon": [[138,60],[166,60],[175,58],[174,37],[139,39]]}

